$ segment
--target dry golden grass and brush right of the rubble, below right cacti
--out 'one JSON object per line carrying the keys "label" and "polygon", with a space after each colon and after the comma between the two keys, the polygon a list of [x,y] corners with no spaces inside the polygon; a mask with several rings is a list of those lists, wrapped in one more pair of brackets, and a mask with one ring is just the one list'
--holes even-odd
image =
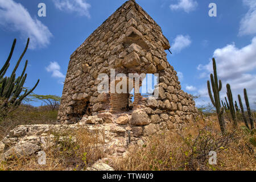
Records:
{"label": "dry golden grass and brush right of the rubble, below right cacti", "polygon": [[[256,170],[255,147],[246,134],[228,125],[229,134],[222,137],[215,119],[151,137],[143,147],[130,147],[125,158],[113,159],[112,166],[122,171]],[[217,165],[208,163],[211,150],[217,152]]]}

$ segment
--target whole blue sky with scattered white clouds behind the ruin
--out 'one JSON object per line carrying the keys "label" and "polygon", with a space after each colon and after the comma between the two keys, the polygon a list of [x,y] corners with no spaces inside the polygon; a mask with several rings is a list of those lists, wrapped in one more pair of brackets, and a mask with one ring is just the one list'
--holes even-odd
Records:
{"label": "whole blue sky with scattered white clouds behind the ruin", "polygon": [[[38,4],[46,4],[46,17],[38,16]],[[30,47],[18,69],[28,59],[25,86],[37,94],[61,96],[69,57],[82,42],[125,1],[120,0],[0,0],[0,65],[17,43],[14,67],[27,37]],[[216,57],[219,77],[230,83],[234,100],[247,88],[251,107],[256,101],[256,1],[254,0],[137,0],[162,27],[172,45],[169,63],[178,72],[182,89],[200,94],[197,105],[209,102],[207,80],[210,59]],[[216,3],[217,16],[208,7]],[[12,68],[9,68],[9,73]],[[7,73],[7,74],[9,74]],[[40,103],[39,103],[40,104]]]}

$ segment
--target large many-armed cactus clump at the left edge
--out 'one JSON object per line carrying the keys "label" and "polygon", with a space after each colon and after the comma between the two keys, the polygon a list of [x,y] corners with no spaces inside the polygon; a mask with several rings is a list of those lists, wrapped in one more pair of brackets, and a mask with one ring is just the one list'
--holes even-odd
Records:
{"label": "large many-armed cactus clump at the left edge", "polygon": [[[28,44],[30,42],[30,39],[27,39],[27,44],[26,47],[22,53],[22,55],[20,55],[19,60],[17,61],[13,72],[11,73],[10,77],[3,77],[5,76],[5,73],[7,71],[7,69],[10,66],[10,60],[11,57],[13,56],[13,51],[15,48],[15,44],[16,44],[16,39],[14,39],[13,42],[13,46],[11,47],[11,52],[9,54],[9,57],[7,58],[5,64],[3,65],[2,69],[0,70],[0,98],[2,98],[3,103],[0,105],[0,109],[5,109],[5,107],[7,107],[8,105],[12,105],[12,106],[19,106],[22,102],[22,100],[28,96],[28,94],[30,94],[38,85],[39,80],[36,82],[35,86],[31,89],[31,90],[25,90],[23,94],[22,90],[23,90],[23,85],[24,82],[26,81],[27,78],[27,74],[25,74],[26,72],[26,68],[27,68],[27,63],[28,61],[26,60],[26,63],[24,65],[22,74],[18,77],[16,77],[16,70],[19,67],[20,61],[22,60],[24,54],[27,51],[28,48]],[[21,94],[21,95],[20,95]]]}

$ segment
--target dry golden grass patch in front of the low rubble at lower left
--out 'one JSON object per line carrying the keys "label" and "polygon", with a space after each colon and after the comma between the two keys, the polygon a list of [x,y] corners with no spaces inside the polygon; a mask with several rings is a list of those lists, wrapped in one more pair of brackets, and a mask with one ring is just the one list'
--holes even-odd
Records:
{"label": "dry golden grass patch in front of the low rubble at lower left", "polygon": [[38,163],[39,156],[12,159],[0,164],[1,170],[8,171],[63,171],[84,170],[98,159],[104,158],[104,139],[101,131],[90,134],[86,129],[49,133],[54,135],[54,145],[46,152],[46,165]]}

